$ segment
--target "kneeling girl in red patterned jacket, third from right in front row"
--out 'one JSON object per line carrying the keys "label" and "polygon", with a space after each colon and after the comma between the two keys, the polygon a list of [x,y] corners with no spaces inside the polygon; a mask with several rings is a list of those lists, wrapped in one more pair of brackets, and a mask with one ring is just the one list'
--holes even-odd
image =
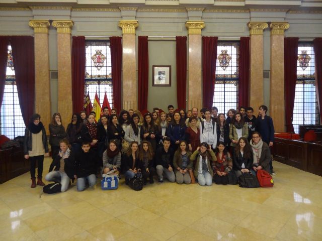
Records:
{"label": "kneeling girl in red patterned jacket, third from right in front row", "polygon": [[232,160],[223,142],[218,142],[216,149],[217,160],[213,163],[213,180],[216,184],[228,184],[228,173],[232,169]]}

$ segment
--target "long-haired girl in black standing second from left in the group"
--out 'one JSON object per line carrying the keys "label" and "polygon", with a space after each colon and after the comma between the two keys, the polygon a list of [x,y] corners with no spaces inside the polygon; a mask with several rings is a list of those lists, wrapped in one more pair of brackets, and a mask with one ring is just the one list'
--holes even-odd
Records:
{"label": "long-haired girl in black standing second from left in the group", "polygon": [[[65,128],[61,123],[60,113],[54,113],[51,119],[51,123],[49,124],[49,144],[51,146],[51,155],[53,157],[52,162],[54,161],[54,157],[59,152],[59,141],[67,136]],[[49,172],[53,170],[54,166],[52,163],[49,167]]]}

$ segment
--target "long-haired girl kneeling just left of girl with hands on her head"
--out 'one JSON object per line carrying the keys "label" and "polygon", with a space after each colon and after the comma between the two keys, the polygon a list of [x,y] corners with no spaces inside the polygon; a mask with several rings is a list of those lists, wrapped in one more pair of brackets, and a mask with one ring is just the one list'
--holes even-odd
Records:
{"label": "long-haired girl kneeling just left of girl with hands on her head", "polygon": [[190,159],[192,153],[188,148],[186,141],[180,141],[179,148],[175,152],[173,159],[173,167],[176,173],[177,183],[190,184],[191,178],[189,169],[193,168],[193,160]]}

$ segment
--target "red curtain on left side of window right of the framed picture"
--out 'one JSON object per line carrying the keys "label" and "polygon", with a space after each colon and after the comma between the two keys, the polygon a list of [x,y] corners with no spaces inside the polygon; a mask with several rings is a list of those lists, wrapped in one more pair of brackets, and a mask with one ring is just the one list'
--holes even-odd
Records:
{"label": "red curtain on left side of window right of the framed picture", "polygon": [[202,37],[202,92],[203,106],[212,107],[215,88],[217,37]]}

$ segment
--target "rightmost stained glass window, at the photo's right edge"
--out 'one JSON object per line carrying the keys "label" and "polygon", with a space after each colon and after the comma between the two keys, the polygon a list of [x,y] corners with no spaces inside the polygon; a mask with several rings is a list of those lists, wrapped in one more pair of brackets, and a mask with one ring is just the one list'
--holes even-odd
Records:
{"label": "rightmost stained glass window, at the photo's right edge", "polygon": [[315,92],[314,51],[312,43],[299,43],[297,49],[297,81],[293,110],[294,132],[299,125],[319,124]]}

